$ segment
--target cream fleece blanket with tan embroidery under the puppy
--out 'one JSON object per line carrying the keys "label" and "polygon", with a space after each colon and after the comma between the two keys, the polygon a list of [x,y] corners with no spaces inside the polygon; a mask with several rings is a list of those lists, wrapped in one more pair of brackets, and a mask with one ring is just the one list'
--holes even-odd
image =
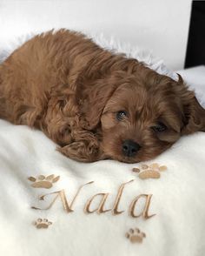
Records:
{"label": "cream fleece blanket with tan embroidery under the puppy", "polygon": [[55,148],[0,120],[0,255],[204,255],[205,133],[142,163],[166,165],[160,179],[140,179],[141,164],[82,164]]}

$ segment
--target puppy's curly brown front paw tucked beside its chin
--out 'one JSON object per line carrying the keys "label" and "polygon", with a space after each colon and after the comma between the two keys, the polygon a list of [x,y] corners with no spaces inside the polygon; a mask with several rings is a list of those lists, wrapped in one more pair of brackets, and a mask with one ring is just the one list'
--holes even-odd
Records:
{"label": "puppy's curly brown front paw tucked beside its chin", "polygon": [[57,148],[63,155],[80,162],[94,162],[102,159],[101,146],[94,134],[88,131],[76,133],[76,139],[69,145]]}

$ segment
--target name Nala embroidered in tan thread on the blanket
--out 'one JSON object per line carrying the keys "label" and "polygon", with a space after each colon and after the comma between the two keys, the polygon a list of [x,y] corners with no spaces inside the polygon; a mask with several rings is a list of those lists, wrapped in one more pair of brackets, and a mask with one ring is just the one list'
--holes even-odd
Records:
{"label": "name Nala embroidered in tan thread on the blanket", "polygon": [[[106,200],[109,197],[109,193],[99,192],[99,193],[96,193],[95,195],[93,195],[90,199],[88,199],[86,201],[86,203],[84,205],[84,212],[89,213],[89,214],[94,213],[94,212],[96,212],[98,214],[102,214],[104,212],[111,212],[112,215],[117,215],[117,214],[121,214],[122,212],[125,212],[123,210],[121,210],[121,211],[119,210],[120,200],[122,198],[122,193],[123,193],[123,190],[124,190],[124,186],[129,184],[130,182],[133,182],[133,181],[134,181],[134,179],[131,179],[128,182],[122,183],[122,185],[120,185],[120,187],[119,187],[119,189],[116,193],[116,199],[114,200],[112,208],[105,209],[105,203],[106,203]],[[41,196],[39,198],[40,200],[44,200],[45,197],[47,197],[51,194],[56,195],[54,197],[54,199],[52,199],[52,201],[50,202],[50,205],[48,205],[46,208],[42,209],[42,208],[38,208],[36,206],[32,206],[31,208],[36,209],[36,210],[48,210],[48,209],[50,209],[50,207],[52,205],[54,205],[54,203],[56,202],[56,199],[60,198],[61,201],[62,201],[64,210],[68,213],[69,212],[74,212],[74,203],[75,203],[79,193],[81,192],[83,186],[90,185],[92,183],[94,183],[94,181],[90,181],[86,184],[81,185],[78,188],[78,190],[76,191],[75,196],[73,197],[73,199],[70,202],[66,198],[65,191],[61,190],[61,191],[57,191],[57,192],[50,192],[50,193],[44,194],[43,196]],[[92,208],[91,205],[92,205],[93,201],[97,197],[100,197],[99,205],[96,207],[96,209],[90,210]],[[155,214],[149,215],[149,205],[150,205],[150,202],[151,202],[151,198],[152,198],[152,194],[140,194],[135,199],[133,199],[131,201],[131,203],[129,204],[129,210],[128,210],[129,216],[131,216],[133,218],[139,218],[139,217],[142,216],[142,218],[144,218],[144,219],[149,219],[149,218],[155,216]],[[139,202],[140,199],[145,199],[144,200],[144,206],[142,208],[142,211],[140,213],[136,214],[137,202]]]}

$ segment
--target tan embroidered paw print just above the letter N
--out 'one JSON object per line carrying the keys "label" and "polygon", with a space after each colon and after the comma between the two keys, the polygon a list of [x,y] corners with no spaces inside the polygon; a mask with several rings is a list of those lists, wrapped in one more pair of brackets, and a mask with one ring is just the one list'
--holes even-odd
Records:
{"label": "tan embroidered paw print just above the letter N", "polygon": [[30,177],[28,178],[33,183],[31,184],[32,187],[35,188],[50,188],[53,186],[53,183],[57,182],[60,179],[60,176],[54,176],[54,174],[51,174],[47,177],[44,175],[39,175],[37,178]]}

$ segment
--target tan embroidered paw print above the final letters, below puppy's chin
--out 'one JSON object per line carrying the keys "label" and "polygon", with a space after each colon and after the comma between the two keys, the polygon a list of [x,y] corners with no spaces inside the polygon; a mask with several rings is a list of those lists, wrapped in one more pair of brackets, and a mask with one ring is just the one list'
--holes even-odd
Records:
{"label": "tan embroidered paw print above the final letters, below puppy's chin", "polygon": [[141,165],[141,168],[133,168],[133,172],[139,172],[138,177],[140,179],[159,179],[161,172],[166,171],[168,168],[166,165],[158,165],[154,163],[152,165]]}

